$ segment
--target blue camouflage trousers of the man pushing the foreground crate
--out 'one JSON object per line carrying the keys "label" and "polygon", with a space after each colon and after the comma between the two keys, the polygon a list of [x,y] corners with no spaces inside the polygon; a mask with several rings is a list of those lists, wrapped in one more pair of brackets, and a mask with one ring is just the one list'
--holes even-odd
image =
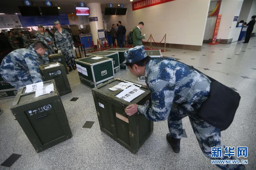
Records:
{"label": "blue camouflage trousers of the man pushing the foreground crate", "polygon": [[[211,159],[211,160],[238,160],[237,157],[224,156],[224,148],[220,140],[220,129],[212,126],[202,120],[196,111],[189,112],[180,107],[176,107],[173,105],[172,111],[168,116],[168,128],[172,135],[172,137],[176,139],[180,139],[183,135],[182,129],[182,118],[189,116],[189,121],[193,128],[193,131],[197,137],[197,141],[199,146],[203,152],[203,154]],[[212,147],[220,147],[222,146],[222,157],[221,158],[212,158],[211,148]],[[216,164],[220,169],[245,169],[244,165],[237,164]]]}

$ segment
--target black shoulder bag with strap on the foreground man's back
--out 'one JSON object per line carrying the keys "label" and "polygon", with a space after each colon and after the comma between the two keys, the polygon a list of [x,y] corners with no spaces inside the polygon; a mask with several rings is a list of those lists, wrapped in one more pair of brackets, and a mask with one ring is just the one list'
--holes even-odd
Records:
{"label": "black shoulder bag with strap on the foreground man's back", "polygon": [[[163,58],[182,63],[172,58]],[[205,122],[219,128],[221,131],[227,129],[233,122],[241,96],[231,88],[205,75],[193,66],[185,63],[182,64],[201,73],[211,81],[210,94],[208,99],[203,102],[201,108],[198,110],[198,115],[205,120]]]}

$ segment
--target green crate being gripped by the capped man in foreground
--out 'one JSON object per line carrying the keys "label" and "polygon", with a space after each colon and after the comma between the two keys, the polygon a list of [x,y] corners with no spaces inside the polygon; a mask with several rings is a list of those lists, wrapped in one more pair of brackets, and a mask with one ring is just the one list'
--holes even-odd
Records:
{"label": "green crate being gripped by the capped man in foreground", "polygon": [[111,91],[109,88],[125,82],[119,78],[92,89],[92,95],[100,124],[100,129],[115,141],[135,154],[153,131],[153,122],[141,114],[127,116],[125,108],[132,104],[151,105],[151,94],[146,86],[141,86],[145,92],[131,102],[116,97],[123,90]]}

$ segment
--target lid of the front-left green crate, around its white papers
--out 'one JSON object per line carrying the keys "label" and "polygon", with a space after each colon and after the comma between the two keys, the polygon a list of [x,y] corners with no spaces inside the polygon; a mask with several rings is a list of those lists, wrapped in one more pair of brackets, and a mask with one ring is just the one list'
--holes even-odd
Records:
{"label": "lid of the front-left green crate, around its white papers", "polygon": [[28,104],[28,103],[32,103],[32,102],[36,102],[36,101],[40,101],[42,99],[46,99],[46,98],[49,98],[49,97],[52,97],[52,96],[57,96],[58,93],[57,93],[57,88],[56,88],[56,85],[55,85],[55,81],[54,80],[48,80],[48,81],[45,81],[43,82],[44,86],[48,86],[50,84],[53,84],[53,91],[50,92],[49,94],[44,94],[44,95],[40,95],[38,97],[35,97],[36,95],[36,91],[34,92],[29,92],[29,93],[25,93],[26,91],[26,86],[24,87],[21,87],[19,90],[18,90],[18,93],[13,101],[13,104],[11,106],[11,109],[12,108],[15,108],[15,107],[18,107],[18,106],[21,106],[21,105],[25,105],[25,104]]}

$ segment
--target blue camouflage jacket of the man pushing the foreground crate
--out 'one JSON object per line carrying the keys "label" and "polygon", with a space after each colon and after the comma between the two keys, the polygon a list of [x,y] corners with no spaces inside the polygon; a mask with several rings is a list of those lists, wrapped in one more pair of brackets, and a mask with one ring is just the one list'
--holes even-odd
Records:
{"label": "blue camouflage jacket of the man pushing the foreground crate", "polygon": [[199,109],[210,91],[210,80],[194,69],[168,59],[150,60],[145,67],[146,84],[152,106],[138,106],[149,120],[166,120],[173,103],[177,109],[192,112]]}

